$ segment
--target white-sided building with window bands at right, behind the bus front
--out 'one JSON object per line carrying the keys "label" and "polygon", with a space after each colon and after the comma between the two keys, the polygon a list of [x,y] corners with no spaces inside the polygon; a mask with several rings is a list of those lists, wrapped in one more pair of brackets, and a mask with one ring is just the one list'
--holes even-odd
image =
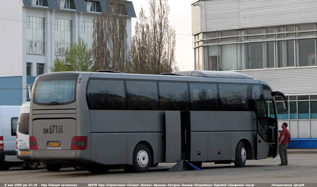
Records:
{"label": "white-sided building with window bands at right, behind the bus front", "polygon": [[317,148],[317,1],[191,5],[195,69],[237,71],[268,82],[288,97],[287,110],[277,103],[278,119],[279,126],[288,123],[293,145]]}

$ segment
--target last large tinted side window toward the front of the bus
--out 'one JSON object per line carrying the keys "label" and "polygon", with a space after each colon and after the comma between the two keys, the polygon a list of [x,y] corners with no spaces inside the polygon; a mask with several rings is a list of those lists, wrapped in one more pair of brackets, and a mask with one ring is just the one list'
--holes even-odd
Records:
{"label": "last large tinted side window toward the front of the bus", "polygon": [[252,84],[219,83],[220,110],[250,110]]}

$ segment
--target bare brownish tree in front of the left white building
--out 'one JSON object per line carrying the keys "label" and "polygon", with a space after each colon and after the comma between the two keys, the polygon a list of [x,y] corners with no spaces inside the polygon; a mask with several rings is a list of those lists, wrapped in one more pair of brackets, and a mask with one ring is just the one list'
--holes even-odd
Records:
{"label": "bare brownish tree in front of the left white building", "polygon": [[126,1],[107,1],[107,14],[94,19],[94,69],[125,72],[128,58],[126,33]]}

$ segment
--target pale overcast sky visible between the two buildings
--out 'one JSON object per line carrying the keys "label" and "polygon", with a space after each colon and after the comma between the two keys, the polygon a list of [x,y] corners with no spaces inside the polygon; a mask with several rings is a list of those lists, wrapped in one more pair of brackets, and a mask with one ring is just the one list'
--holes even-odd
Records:
{"label": "pale overcast sky visible between the two buildings", "polygon": [[[130,0],[133,2],[137,18],[132,18],[132,35],[135,31],[135,22],[139,17],[141,6],[146,16],[149,16],[147,0]],[[176,33],[176,62],[180,70],[194,70],[194,49],[191,35],[191,1],[169,0],[169,24],[175,27]]]}

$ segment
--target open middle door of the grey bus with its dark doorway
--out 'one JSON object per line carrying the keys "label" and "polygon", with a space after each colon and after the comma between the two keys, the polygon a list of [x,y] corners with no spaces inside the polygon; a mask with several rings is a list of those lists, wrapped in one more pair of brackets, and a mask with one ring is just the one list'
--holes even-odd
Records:
{"label": "open middle door of the grey bus with its dark doorway", "polygon": [[189,160],[190,116],[189,112],[165,111],[165,162]]}

